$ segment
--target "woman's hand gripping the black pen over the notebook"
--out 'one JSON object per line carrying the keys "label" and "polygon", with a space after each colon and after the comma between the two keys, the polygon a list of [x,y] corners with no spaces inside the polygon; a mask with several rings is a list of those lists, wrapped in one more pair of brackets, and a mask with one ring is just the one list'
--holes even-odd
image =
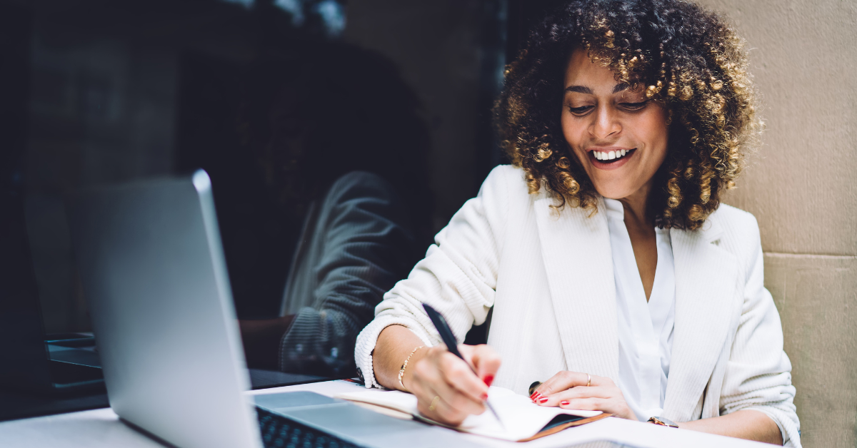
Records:
{"label": "woman's hand gripping the black pen over the notebook", "polygon": [[[458,426],[467,415],[485,412],[488,386],[500,369],[500,356],[488,345],[458,345],[476,373],[443,345],[420,349],[423,354],[405,372],[403,384],[417,397],[417,409],[426,417]],[[410,375],[408,373],[411,373]]]}

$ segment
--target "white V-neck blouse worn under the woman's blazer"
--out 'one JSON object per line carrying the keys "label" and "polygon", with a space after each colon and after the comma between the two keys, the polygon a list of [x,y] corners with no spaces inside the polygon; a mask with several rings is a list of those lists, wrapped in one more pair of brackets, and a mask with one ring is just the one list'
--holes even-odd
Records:
{"label": "white V-neck blouse worn under the woman's blazer", "polygon": [[655,229],[655,283],[646,303],[643,281],[618,200],[604,199],[616,282],[619,388],[640,421],[662,415],[675,324],[675,274],[669,231]]}

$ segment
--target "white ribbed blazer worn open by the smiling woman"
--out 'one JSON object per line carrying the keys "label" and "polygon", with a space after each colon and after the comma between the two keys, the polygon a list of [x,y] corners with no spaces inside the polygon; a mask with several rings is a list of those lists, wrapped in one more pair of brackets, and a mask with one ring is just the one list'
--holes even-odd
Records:
{"label": "white ribbed blazer worn open by the smiling woman", "polygon": [[[619,377],[613,262],[602,200],[598,212],[550,208],[529,194],[524,171],[499,166],[426,258],[387,292],[357,337],[357,367],[378,386],[372,350],[385,327],[441,343],[420,306],[449,321],[458,341],[492,310],[488,344],[501,356],[494,385],[527,394],[562,370]],[[692,421],[755,409],[788,446],[800,446],[791,363],[782,326],[763,285],[758,224],[722,205],[703,229],[670,230],[675,264],[675,330],[663,416]]]}

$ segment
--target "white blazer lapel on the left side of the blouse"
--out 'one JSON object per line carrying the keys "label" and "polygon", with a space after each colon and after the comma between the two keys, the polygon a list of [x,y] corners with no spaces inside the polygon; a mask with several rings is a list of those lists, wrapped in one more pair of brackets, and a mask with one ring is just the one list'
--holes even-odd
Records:
{"label": "white blazer lapel on the left side of the blouse", "polygon": [[619,378],[616,290],[603,201],[598,212],[567,206],[557,213],[548,194],[535,200],[548,290],[566,367]]}

